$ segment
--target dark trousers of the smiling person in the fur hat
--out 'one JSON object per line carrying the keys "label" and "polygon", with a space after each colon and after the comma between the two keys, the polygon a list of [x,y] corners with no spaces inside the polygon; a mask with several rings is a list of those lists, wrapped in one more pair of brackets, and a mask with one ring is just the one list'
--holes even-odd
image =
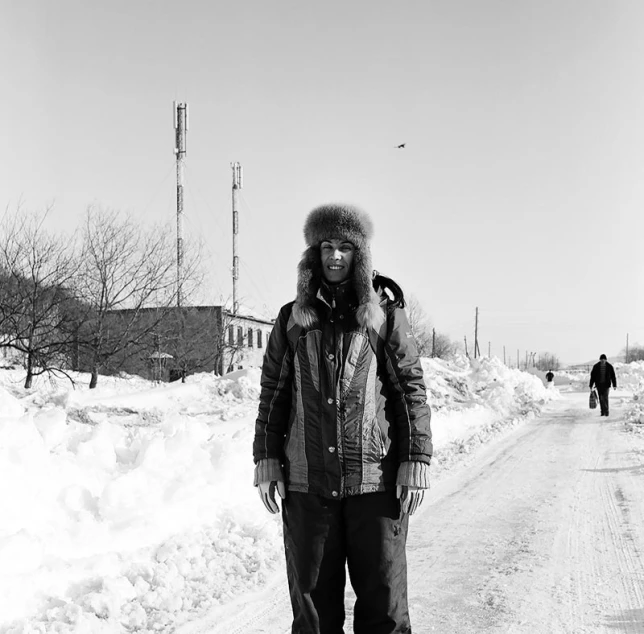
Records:
{"label": "dark trousers of the smiling person in the fur hat", "polygon": [[288,492],[282,505],[292,634],[343,634],[345,566],[356,634],[411,634],[405,545],[395,492],[329,500]]}

